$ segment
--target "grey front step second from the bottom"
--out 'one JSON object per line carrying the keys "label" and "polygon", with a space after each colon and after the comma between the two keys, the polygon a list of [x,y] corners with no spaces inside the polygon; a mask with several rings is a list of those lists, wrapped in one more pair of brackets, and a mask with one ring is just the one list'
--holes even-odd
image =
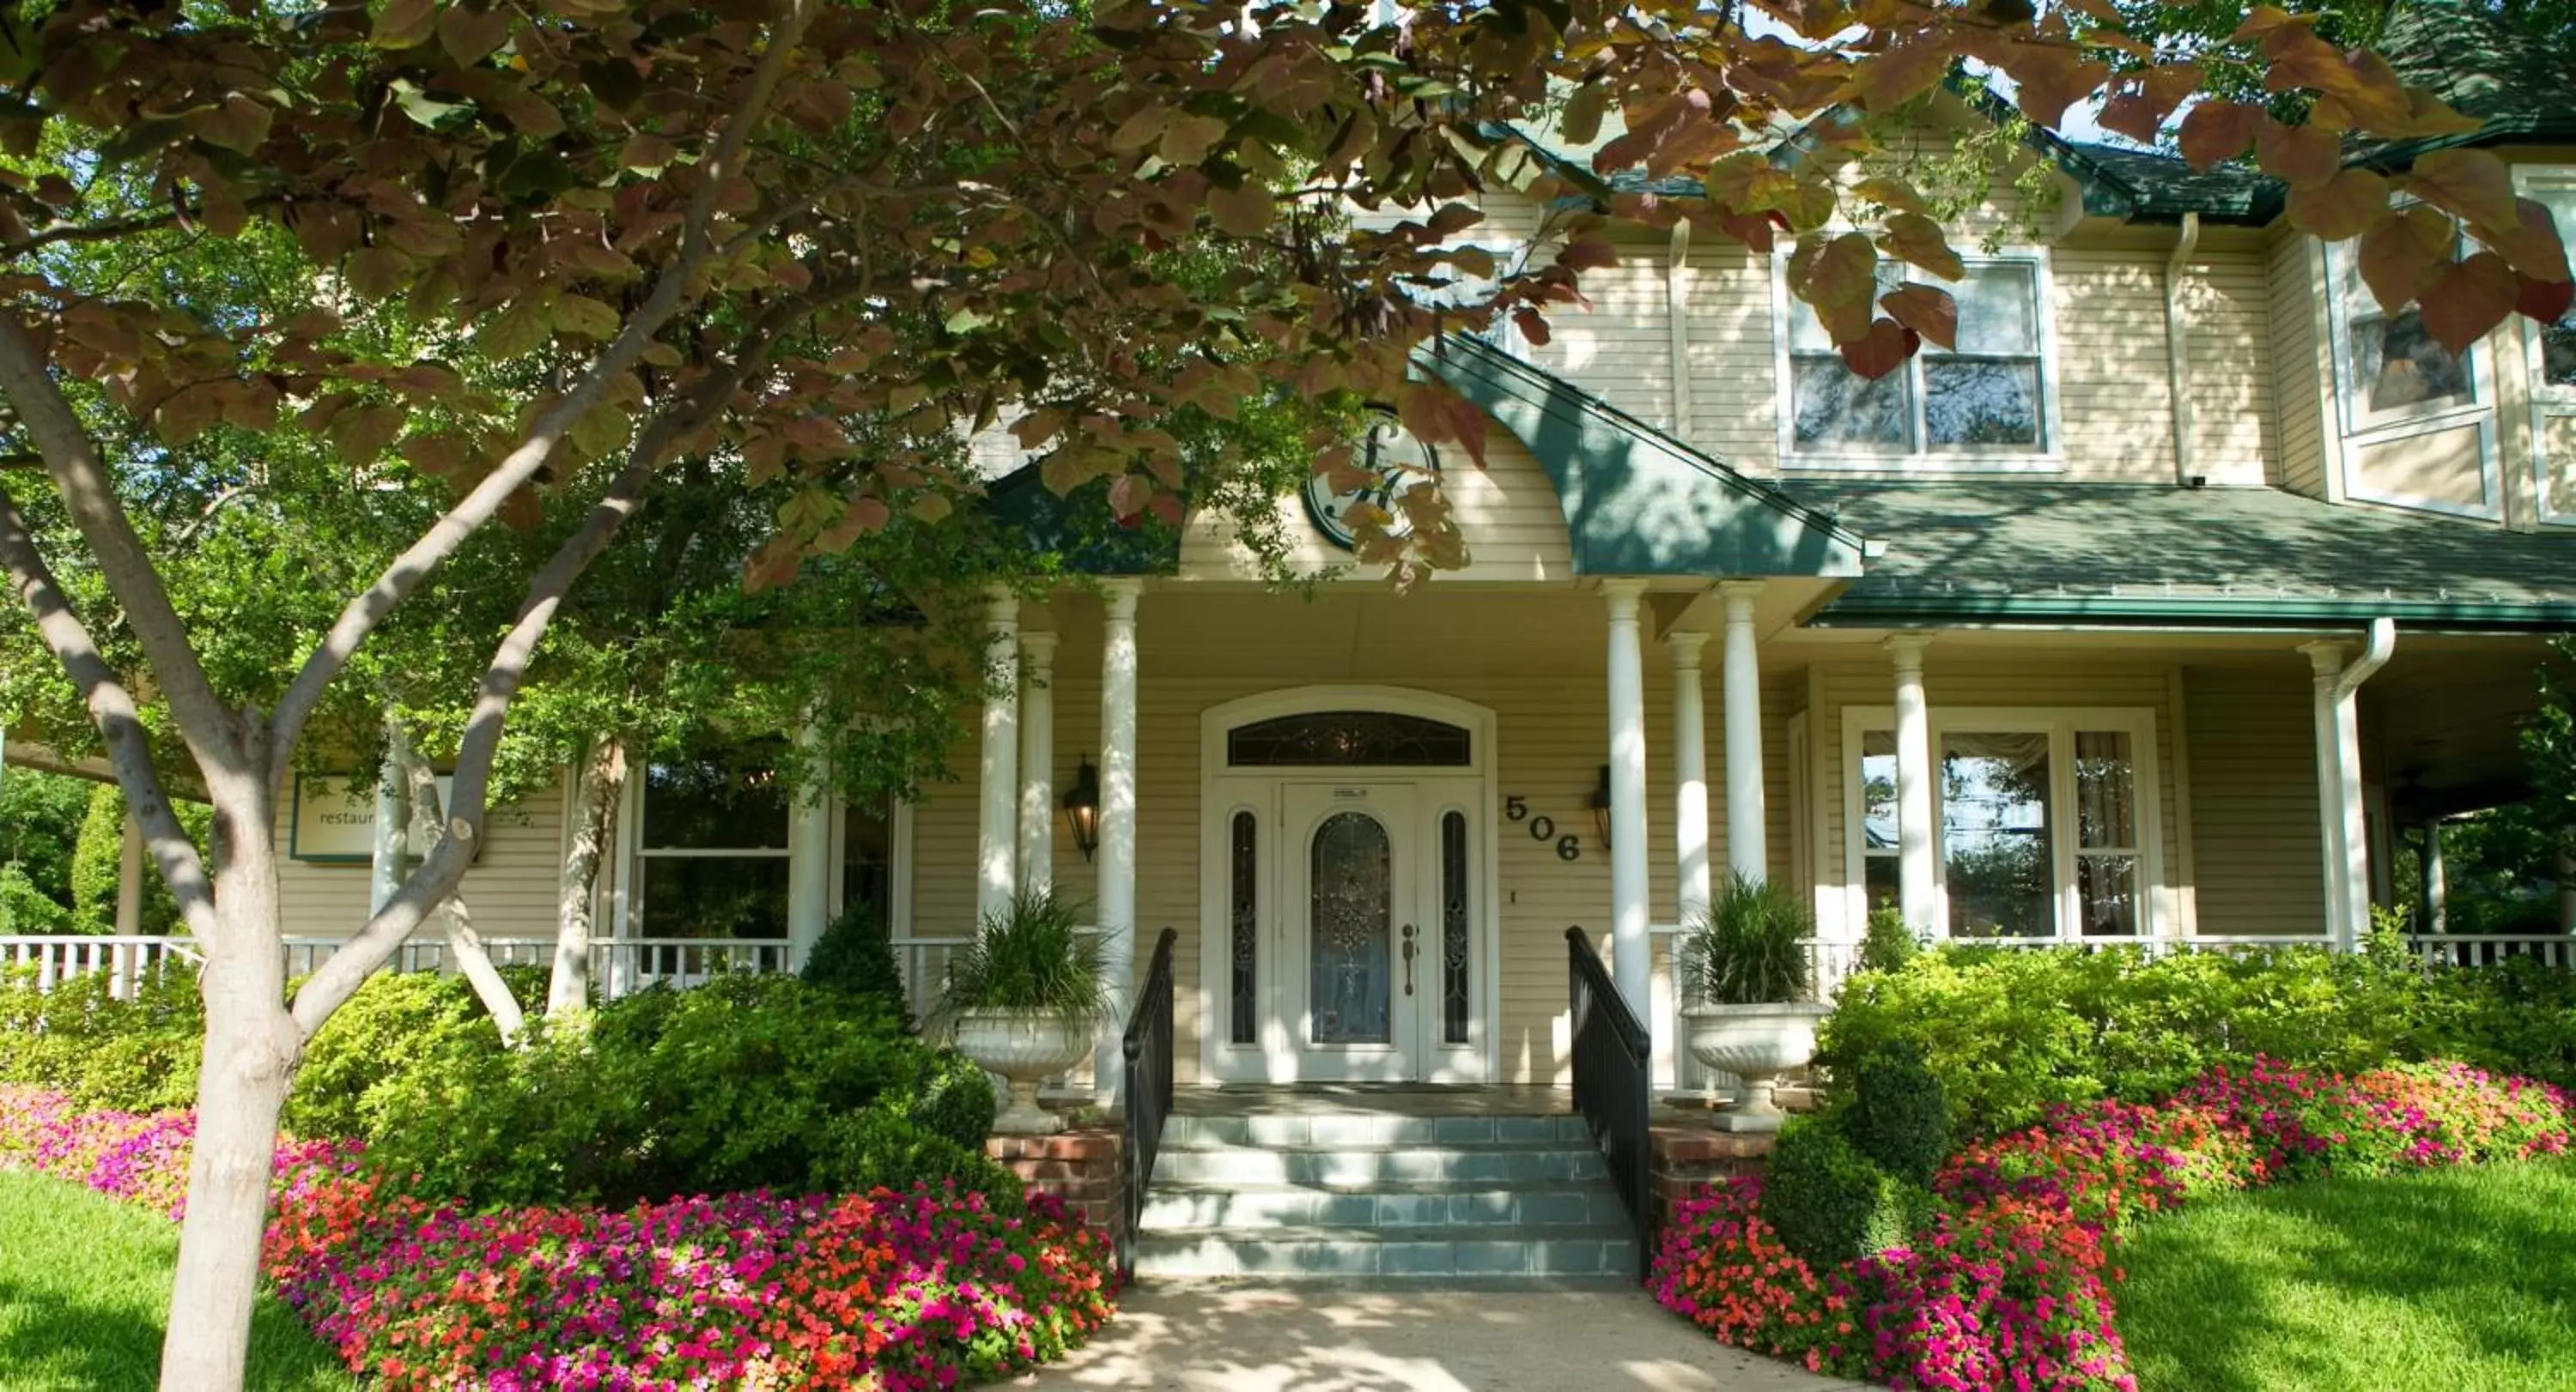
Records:
{"label": "grey front step second from the bottom", "polygon": [[1157,1184],[1144,1230],[1177,1227],[1561,1227],[1618,1225],[1628,1209],[1607,1184]]}

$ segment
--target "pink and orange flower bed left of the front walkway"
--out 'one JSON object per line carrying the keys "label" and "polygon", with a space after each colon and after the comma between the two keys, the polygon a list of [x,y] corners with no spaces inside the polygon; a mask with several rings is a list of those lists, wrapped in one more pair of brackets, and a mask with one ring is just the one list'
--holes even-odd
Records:
{"label": "pink and orange flower bed left of the front walkway", "polygon": [[[193,1119],[0,1088],[0,1166],[178,1212]],[[930,1389],[1064,1353],[1110,1315],[1108,1240],[1056,1199],[690,1196],[469,1214],[281,1148],[263,1268],[379,1387]]]}

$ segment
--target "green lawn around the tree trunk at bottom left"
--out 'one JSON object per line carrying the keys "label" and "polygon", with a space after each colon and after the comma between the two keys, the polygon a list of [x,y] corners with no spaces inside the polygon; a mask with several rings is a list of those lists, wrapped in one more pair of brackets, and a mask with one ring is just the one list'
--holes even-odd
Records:
{"label": "green lawn around the tree trunk at bottom left", "polygon": [[[0,1392],[147,1392],[160,1377],[178,1227],[59,1178],[0,1171]],[[252,1392],[355,1387],[260,1297]]]}

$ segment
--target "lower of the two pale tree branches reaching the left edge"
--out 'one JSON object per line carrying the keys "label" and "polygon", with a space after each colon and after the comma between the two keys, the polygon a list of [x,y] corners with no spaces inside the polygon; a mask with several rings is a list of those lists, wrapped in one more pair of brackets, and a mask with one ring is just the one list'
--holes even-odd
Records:
{"label": "lower of the two pale tree branches reaching the left edge", "polygon": [[52,566],[44,563],[26,517],[18,515],[18,502],[5,489],[0,489],[0,566],[8,569],[18,600],[36,615],[44,646],[80,687],[90,720],[106,736],[108,767],[116,769],[116,785],[126,792],[126,808],[144,831],[152,862],[160,865],[162,880],[178,898],[180,919],[188,921],[188,931],[198,942],[214,942],[214,885],[206,883],[206,862],[198,859],[196,841],[180,826],[178,810],[170,808],[170,795],[162,790],[160,769],[152,767],[152,738],[144,733],[134,695],[116,679],[108,659],[90,641],[90,630],[72,612],[72,602],[54,584]]}

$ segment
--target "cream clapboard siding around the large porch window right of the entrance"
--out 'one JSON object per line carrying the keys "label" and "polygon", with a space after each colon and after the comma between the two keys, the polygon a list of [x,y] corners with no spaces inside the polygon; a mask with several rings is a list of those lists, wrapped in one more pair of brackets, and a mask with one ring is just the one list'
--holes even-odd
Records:
{"label": "cream clapboard siding around the large porch window right of the entrance", "polygon": [[[2038,651],[1999,661],[1991,656],[1950,656],[1935,641],[1924,654],[1924,700],[1937,720],[1942,708],[2148,708],[2156,715],[2156,813],[2159,836],[2164,844],[2161,880],[2151,885],[2156,893],[2159,913],[2177,913],[2174,901],[2179,898],[2179,857],[2174,847],[2177,834],[2177,795],[2174,795],[2174,718],[2166,684],[2166,664],[2148,661],[2117,661],[2117,659],[2056,659]],[[1847,816],[1844,816],[1844,785],[1852,772],[1852,751],[1844,749],[1842,738],[1842,713],[1850,705],[1883,708],[1896,702],[1896,674],[1883,661],[1819,661],[1811,677],[1811,715],[1808,738],[1816,746],[1821,816],[1816,826],[1821,836],[1816,841],[1816,883],[1824,890],[1837,890],[1857,883],[1857,872],[1850,867],[1847,857]],[[2197,700],[2187,695],[2187,702]],[[1940,751],[1935,749],[1935,759]],[[2197,787],[2202,754],[2192,749],[2192,777],[2195,795],[2205,803],[2208,790]],[[2205,831],[2202,831],[2205,836]],[[1826,934],[1837,929],[1844,934],[1857,934],[1860,924],[1850,921],[1844,911],[1844,895],[1819,893],[1819,926]],[[2172,926],[2172,919],[2161,919]],[[2210,931],[2208,901],[2200,906],[2202,931]]]}

